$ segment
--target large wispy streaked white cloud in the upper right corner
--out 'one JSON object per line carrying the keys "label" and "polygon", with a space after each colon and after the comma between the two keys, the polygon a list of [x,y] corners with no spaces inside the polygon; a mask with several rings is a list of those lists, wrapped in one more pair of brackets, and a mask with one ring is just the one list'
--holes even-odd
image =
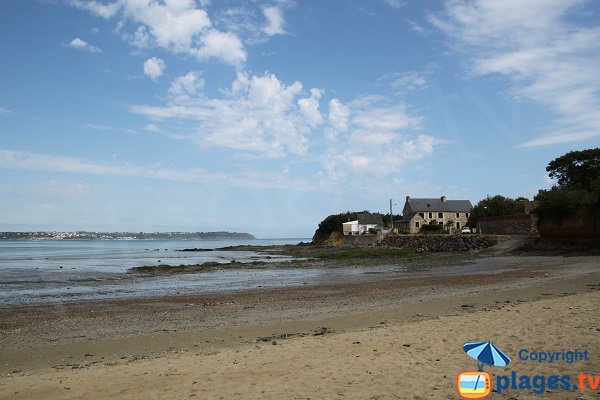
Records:
{"label": "large wispy streaked white cloud in the upper right corner", "polygon": [[544,133],[520,144],[538,147],[600,137],[600,26],[575,25],[580,0],[463,1],[446,4],[430,21],[472,56],[471,74],[501,74],[516,96],[558,117]]}

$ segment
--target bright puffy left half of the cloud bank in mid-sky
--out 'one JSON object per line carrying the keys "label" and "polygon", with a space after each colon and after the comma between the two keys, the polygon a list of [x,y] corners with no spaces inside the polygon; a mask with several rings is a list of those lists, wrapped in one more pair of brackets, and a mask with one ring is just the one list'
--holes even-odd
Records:
{"label": "bright puffy left half of the cloud bank in mid-sky", "polygon": [[285,85],[275,75],[239,73],[231,94],[223,99],[197,97],[164,107],[137,105],[132,112],[155,119],[193,122],[188,135],[201,148],[223,148],[255,158],[303,155],[308,135],[322,119],[320,91],[302,97],[302,85]]}

